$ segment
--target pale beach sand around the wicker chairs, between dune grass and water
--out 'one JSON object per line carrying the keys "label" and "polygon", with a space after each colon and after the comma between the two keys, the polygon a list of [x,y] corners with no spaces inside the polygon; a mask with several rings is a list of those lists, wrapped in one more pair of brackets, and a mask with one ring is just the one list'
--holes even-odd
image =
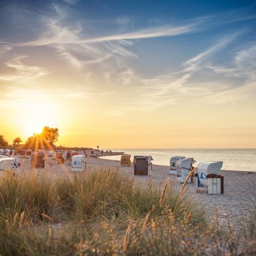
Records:
{"label": "pale beach sand around the wicker chairs, between dune grass and water", "polygon": [[[179,190],[182,184],[178,183],[176,176],[169,174],[168,166],[158,166],[153,164],[152,175],[150,176],[138,176],[134,175],[134,167],[120,167],[120,161],[108,160],[98,158],[96,156],[103,156],[100,151],[94,151],[95,154],[91,155],[90,150],[87,151],[86,157],[87,172],[93,172],[94,169],[99,167],[115,168],[119,167],[120,173],[129,175],[135,180],[148,182],[153,180],[156,184],[164,184],[166,180],[173,181],[175,190]],[[84,151],[80,151],[79,154],[84,154]],[[114,155],[109,154],[109,155]],[[104,154],[106,156],[106,154]],[[30,171],[30,156],[17,155],[15,158],[18,162],[22,163],[20,167],[23,170]],[[56,164],[54,157],[45,156],[45,172],[47,175],[53,175],[53,177],[61,177],[63,175],[73,175],[71,172],[71,162],[65,159],[63,164]],[[43,169],[36,169],[36,172],[42,172]],[[207,195],[196,193],[196,185],[186,184],[188,190],[186,196],[189,200],[193,200],[201,205],[206,212],[206,218],[210,221],[215,218],[215,207],[218,208],[220,214],[221,225],[226,226],[227,215],[230,217],[230,222],[233,228],[239,229],[244,221],[249,221],[252,216],[252,210],[256,207],[256,172],[241,172],[232,170],[222,170],[221,175],[224,176],[224,194]]]}

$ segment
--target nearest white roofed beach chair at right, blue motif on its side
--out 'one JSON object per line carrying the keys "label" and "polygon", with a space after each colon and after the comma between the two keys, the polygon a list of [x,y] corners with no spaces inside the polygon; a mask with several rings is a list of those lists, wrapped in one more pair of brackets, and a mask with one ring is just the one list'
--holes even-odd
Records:
{"label": "nearest white roofed beach chair at right, blue motif on its side", "polygon": [[196,168],[196,191],[207,189],[207,194],[223,194],[224,178],[220,175],[223,162],[202,162]]}

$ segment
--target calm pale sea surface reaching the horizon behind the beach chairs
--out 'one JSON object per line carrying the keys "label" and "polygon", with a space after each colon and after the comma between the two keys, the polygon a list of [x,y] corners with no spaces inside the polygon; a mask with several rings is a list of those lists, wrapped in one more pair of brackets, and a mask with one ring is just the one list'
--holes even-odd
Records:
{"label": "calm pale sea surface reaching the horizon behind the beach chairs", "polygon": [[[256,171],[256,148],[250,149],[113,149],[112,152],[125,152],[131,154],[131,161],[134,156],[152,156],[153,164],[169,166],[170,157],[184,156],[193,157],[197,163],[206,161],[222,161],[223,170],[245,170]],[[106,156],[106,159],[120,160],[120,156]],[[194,164],[196,166],[196,163]]]}

